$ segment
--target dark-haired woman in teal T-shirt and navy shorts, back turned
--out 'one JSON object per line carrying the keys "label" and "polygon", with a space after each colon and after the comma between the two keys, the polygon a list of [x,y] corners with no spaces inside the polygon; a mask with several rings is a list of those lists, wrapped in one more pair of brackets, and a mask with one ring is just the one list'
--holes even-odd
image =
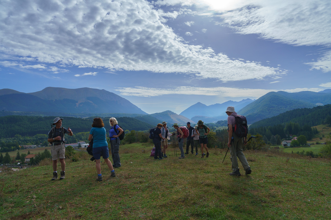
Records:
{"label": "dark-haired woman in teal T-shirt and navy shorts, back turned", "polygon": [[104,123],[101,118],[94,118],[92,128],[90,131],[90,135],[88,140],[91,141],[93,138],[93,157],[95,159],[95,167],[97,169],[97,180],[102,181],[101,175],[101,165],[100,165],[100,157],[106,162],[111,176],[116,176],[115,170],[113,168],[112,162],[108,159],[109,157],[109,149],[107,143],[107,133],[104,128]]}

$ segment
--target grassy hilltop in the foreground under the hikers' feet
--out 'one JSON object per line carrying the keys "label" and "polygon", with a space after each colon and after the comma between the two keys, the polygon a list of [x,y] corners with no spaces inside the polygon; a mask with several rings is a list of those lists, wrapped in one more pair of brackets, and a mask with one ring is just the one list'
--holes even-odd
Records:
{"label": "grassy hilltop in the foreground under the hikers' feet", "polygon": [[[97,182],[81,152],[66,179],[51,181],[51,163],[0,173],[2,219],[325,219],[330,215],[330,161],[273,152],[245,152],[251,175],[233,177],[229,153],[209,158],[149,157],[152,146],[120,147],[122,167]],[[178,156],[177,147],[177,156]],[[166,168],[166,169],[165,169]]]}

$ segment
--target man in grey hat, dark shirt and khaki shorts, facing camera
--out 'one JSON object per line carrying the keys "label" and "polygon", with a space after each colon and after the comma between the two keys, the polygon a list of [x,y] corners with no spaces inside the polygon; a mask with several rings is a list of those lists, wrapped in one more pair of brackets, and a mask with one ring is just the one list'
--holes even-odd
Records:
{"label": "man in grey hat, dark shirt and khaki shorts, facing camera", "polygon": [[61,127],[62,126],[62,120],[63,118],[56,117],[53,120],[53,124],[55,127],[53,127],[48,132],[48,139],[47,141],[50,142],[51,145],[51,155],[52,155],[52,166],[53,166],[53,178],[52,180],[55,180],[58,178],[58,159],[60,159],[61,163],[61,176],[60,179],[66,178],[66,162],[65,162],[65,154],[66,154],[66,146],[65,146],[65,140],[64,135],[67,133],[70,136],[72,136],[72,131],[70,127],[68,129]]}

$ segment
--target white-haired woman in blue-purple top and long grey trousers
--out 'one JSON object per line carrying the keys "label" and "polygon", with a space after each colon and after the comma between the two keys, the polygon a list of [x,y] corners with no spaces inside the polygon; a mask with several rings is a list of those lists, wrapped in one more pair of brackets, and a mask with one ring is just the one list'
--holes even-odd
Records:
{"label": "white-haired woman in blue-purple top and long grey trousers", "polygon": [[[113,167],[118,168],[121,166],[121,161],[119,159],[119,136],[123,133],[123,129],[118,126],[118,122],[116,118],[110,118],[109,124],[111,129],[109,130],[109,138],[110,138],[110,149],[112,151],[113,158]],[[115,129],[117,131],[115,131]]]}

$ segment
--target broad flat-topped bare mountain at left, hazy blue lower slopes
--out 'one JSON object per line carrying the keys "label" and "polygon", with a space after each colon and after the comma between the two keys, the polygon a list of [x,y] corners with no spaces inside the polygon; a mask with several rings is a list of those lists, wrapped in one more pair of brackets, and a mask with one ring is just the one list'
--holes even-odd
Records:
{"label": "broad flat-topped bare mountain at left, hazy blue lower slopes", "polygon": [[69,113],[138,113],[147,114],[128,100],[104,89],[47,87],[23,93],[0,89],[0,110]]}

